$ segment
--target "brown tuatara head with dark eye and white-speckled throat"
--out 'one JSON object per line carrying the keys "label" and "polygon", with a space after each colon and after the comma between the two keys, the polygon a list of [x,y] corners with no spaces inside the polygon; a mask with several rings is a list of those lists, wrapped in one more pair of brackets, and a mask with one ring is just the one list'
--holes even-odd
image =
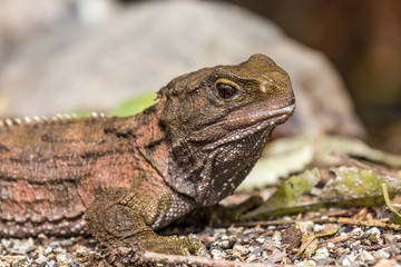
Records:
{"label": "brown tuatara head with dark eye and white-speckled throat", "polygon": [[159,98],[172,149],[166,181],[202,206],[234,191],[295,108],[288,75],[264,55],[180,76]]}

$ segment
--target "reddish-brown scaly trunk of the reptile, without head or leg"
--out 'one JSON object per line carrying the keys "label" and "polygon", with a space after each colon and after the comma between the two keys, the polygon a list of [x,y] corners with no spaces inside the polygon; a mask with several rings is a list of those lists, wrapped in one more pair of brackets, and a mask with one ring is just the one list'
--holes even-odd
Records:
{"label": "reddish-brown scaly trunk of the reptile, without head or leg", "polygon": [[139,151],[153,144],[150,117],[0,127],[0,236],[86,234],[97,191],[151,184],[143,174],[155,170]]}

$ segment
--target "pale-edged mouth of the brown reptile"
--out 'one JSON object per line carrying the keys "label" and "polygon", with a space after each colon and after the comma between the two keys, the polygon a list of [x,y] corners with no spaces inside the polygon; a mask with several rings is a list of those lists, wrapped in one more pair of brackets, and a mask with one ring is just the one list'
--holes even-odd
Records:
{"label": "pale-edged mouth of the brown reptile", "polygon": [[235,130],[233,134],[225,136],[218,141],[207,145],[204,149],[212,150],[216,147],[223,146],[228,142],[237,141],[244,139],[248,136],[252,136],[260,131],[265,131],[268,128],[274,128],[277,125],[283,123],[287,118],[294,112],[295,103],[290,106],[273,109],[273,110],[262,110],[253,112],[246,117],[238,117],[229,120],[229,123],[236,125],[247,125],[246,127]]}

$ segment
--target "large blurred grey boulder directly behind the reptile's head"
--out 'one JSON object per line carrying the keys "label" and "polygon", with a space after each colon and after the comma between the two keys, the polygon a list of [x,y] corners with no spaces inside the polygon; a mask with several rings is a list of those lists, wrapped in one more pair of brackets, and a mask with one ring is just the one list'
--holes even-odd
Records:
{"label": "large blurred grey boulder directly behind the reptile's head", "polygon": [[282,132],[363,135],[342,79],[322,53],[244,9],[200,1],[135,3],[102,24],[71,27],[29,46],[0,75],[3,116],[108,110],[178,75],[255,52],[292,77],[297,109]]}

